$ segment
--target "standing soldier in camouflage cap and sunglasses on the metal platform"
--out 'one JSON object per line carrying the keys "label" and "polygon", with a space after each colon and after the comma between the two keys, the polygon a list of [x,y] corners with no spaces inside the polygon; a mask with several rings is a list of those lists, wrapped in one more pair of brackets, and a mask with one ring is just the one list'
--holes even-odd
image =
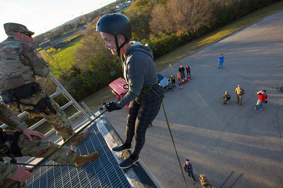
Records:
{"label": "standing soldier in camouflage cap and sunglasses on the metal platform", "polygon": [[[49,75],[49,67],[42,59],[41,54],[32,46],[34,32],[28,30],[24,25],[15,23],[4,24],[5,33],[8,38],[0,43],[0,95],[14,93],[15,88],[27,87],[35,84],[36,76],[47,77]],[[32,85],[37,87],[36,92],[27,97],[20,97],[19,102],[6,102],[9,107],[16,107],[21,111],[29,112],[30,118],[42,116],[53,126],[63,140],[70,138],[74,131],[66,114],[54,100],[41,89],[40,85]],[[13,89],[13,90],[11,90]],[[33,88],[34,89],[34,88]],[[36,105],[45,100],[49,106],[43,110],[35,111]],[[4,100],[5,102],[5,100]],[[42,104],[42,103],[41,103]],[[39,106],[39,105],[38,105]],[[73,145],[77,145],[88,136],[88,131],[82,132],[76,138],[71,140]]]}

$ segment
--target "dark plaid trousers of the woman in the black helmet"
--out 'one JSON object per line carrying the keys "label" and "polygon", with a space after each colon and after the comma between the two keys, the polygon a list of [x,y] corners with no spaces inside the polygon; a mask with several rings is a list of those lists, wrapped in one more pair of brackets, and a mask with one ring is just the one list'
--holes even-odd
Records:
{"label": "dark plaid trousers of the woman in the black helmet", "polygon": [[[162,89],[158,85],[154,86],[152,89],[160,96],[161,100],[163,100]],[[153,122],[161,106],[158,96],[153,93],[153,91],[142,93],[139,97],[130,102],[125,143],[132,143],[134,135],[136,135],[132,152],[133,155],[140,154],[145,143],[145,133],[148,125]]]}

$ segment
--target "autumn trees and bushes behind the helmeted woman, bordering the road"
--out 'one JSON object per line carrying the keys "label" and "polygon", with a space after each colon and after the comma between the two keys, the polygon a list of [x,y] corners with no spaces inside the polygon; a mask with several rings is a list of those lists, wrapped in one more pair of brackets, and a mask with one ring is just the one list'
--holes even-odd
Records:
{"label": "autumn trees and bushes behind the helmeted woman, bordering the road", "polygon": [[[125,15],[132,24],[132,40],[149,44],[154,58],[193,39],[270,5],[277,0],[138,0]],[[66,89],[77,100],[100,90],[122,76],[117,57],[104,47],[96,32],[95,17],[75,51],[73,66],[61,75]]]}

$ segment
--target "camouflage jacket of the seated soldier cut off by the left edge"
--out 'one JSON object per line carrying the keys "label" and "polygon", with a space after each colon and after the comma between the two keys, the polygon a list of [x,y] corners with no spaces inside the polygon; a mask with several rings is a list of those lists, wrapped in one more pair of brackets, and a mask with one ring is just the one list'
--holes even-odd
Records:
{"label": "camouflage jacket of the seated soldier cut off by the left edge", "polygon": [[[0,122],[5,123],[11,128],[15,128],[18,131],[22,131],[27,127],[27,124],[23,120],[21,120],[14,112],[12,112],[9,108],[6,108],[5,105],[0,103]],[[1,144],[2,145],[2,144]],[[6,153],[7,149],[0,148],[1,153]],[[0,159],[2,159],[2,155],[0,153]],[[4,163],[0,161],[0,179],[10,178],[15,171],[17,170],[17,165]]]}

